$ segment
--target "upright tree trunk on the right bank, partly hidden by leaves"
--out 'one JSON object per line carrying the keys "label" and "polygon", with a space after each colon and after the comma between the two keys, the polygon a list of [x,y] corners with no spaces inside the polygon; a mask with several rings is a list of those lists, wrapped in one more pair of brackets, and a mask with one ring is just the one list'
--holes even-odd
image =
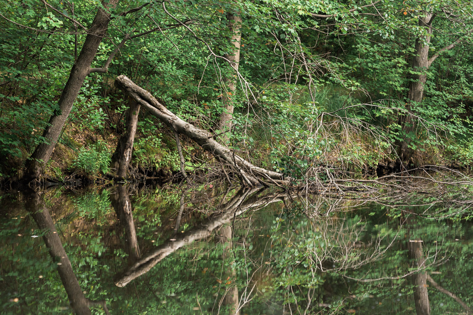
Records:
{"label": "upright tree trunk on the right bank, partly hidden by leaves", "polygon": [[[414,57],[411,60],[412,71],[418,73],[412,75],[411,81],[409,82],[409,92],[407,94],[408,103],[407,110],[411,112],[411,105],[422,103],[424,96],[424,85],[427,81],[427,70],[430,67],[429,62],[429,44],[432,34],[432,13],[425,13],[424,17],[419,18],[419,26],[427,29],[427,36],[423,36],[416,39]],[[399,158],[403,162],[418,164],[415,159],[415,150],[409,148],[411,137],[415,137],[413,133],[416,130],[416,123],[413,118],[409,115],[405,116],[401,121],[402,130],[405,134],[405,139],[399,144]]]}

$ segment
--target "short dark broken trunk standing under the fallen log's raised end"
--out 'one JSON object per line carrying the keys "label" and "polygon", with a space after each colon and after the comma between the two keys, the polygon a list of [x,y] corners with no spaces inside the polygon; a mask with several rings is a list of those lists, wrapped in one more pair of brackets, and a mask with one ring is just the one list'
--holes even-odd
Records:
{"label": "short dark broken trunk standing under the fallen log's raised end", "polygon": [[120,140],[118,140],[117,149],[112,156],[112,168],[117,170],[116,174],[118,178],[127,177],[140,107],[140,104],[130,98],[130,108],[126,115],[126,131],[125,134],[120,137]]}

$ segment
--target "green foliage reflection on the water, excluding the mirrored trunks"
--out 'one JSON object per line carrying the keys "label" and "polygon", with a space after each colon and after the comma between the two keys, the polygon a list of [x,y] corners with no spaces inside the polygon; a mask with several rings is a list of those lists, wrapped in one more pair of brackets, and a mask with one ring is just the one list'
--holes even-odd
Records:
{"label": "green foliage reflection on the water, excluding the mirrored trunks", "polygon": [[[202,213],[220,201],[201,191],[186,196],[193,209],[200,209],[201,203],[206,207],[201,213],[188,213],[188,204],[179,233],[186,225],[198,224]],[[199,200],[203,196],[210,199]],[[146,253],[174,233],[179,195],[147,189],[130,198],[140,251]],[[107,221],[115,218],[108,191],[85,193],[73,201],[81,222],[99,224],[78,230],[57,218],[56,227],[86,296],[106,299],[114,313],[188,314],[198,308],[202,313],[228,314],[223,296],[236,287],[241,314],[289,309],[295,314],[306,308],[308,314],[410,314],[415,305],[409,274],[417,271],[407,253],[412,239],[423,241],[431,277],[471,305],[471,225],[461,216],[442,219],[440,214],[453,208],[448,202],[439,205],[431,196],[419,195],[384,199],[381,204],[359,198],[310,198],[237,216],[228,223],[233,228],[231,248],[221,241],[222,231],[216,230],[209,241],[180,248],[125,288],[112,281],[126,268],[128,257],[119,248],[126,240],[110,229],[117,223]],[[306,201],[314,208],[304,209]],[[409,205],[412,202],[424,205]],[[423,218],[427,212],[436,219]],[[56,314],[58,307],[68,306],[67,298],[43,240],[29,235],[31,229],[35,235],[40,232],[30,217],[24,217],[2,220],[0,225],[0,250],[6,253],[0,256],[0,301],[5,314],[18,313],[20,304],[8,302],[16,291],[23,313]],[[432,286],[428,290],[433,314],[462,312],[453,299]],[[100,312],[100,307],[94,310]]]}

